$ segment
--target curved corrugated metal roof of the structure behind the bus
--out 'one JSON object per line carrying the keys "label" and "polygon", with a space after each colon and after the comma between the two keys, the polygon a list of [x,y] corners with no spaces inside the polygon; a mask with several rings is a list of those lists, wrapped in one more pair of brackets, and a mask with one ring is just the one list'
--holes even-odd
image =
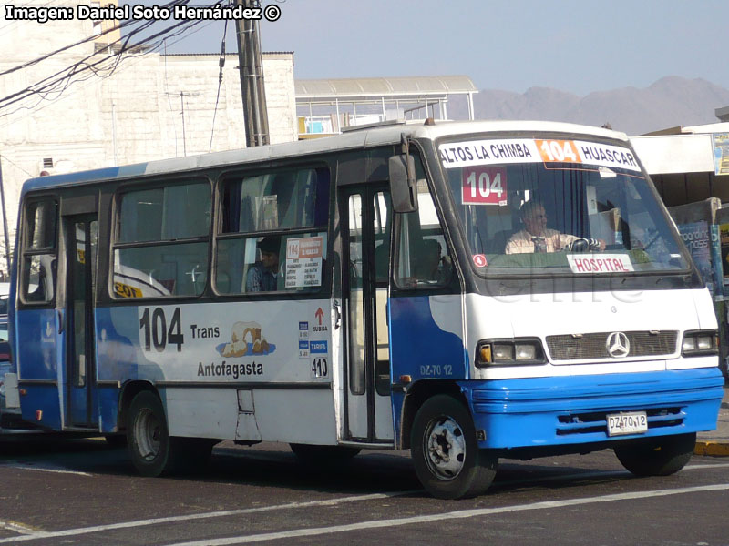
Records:
{"label": "curved corrugated metal roof of the structure behind the bus", "polygon": [[296,98],[424,96],[477,93],[468,76],[306,79],[294,82]]}

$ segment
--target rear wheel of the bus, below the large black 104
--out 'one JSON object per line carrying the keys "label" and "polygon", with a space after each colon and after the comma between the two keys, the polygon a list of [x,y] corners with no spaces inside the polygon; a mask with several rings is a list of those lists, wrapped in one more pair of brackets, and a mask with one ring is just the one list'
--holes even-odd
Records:
{"label": "rear wheel of the bus, below the large black 104", "polygon": [[162,402],[142,390],[129,405],[127,444],[132,464],[142,476],[169,474],[175,468],[174,442],[169,437]]}

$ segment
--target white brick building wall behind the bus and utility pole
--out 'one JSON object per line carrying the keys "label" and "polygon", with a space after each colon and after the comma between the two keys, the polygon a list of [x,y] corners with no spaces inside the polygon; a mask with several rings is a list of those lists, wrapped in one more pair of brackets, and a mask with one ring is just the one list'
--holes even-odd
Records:
{"label": "white brick building wall behind the bus and utility pole", "polygon": [[[45,2],[22,4],[46,5]],[[5,3],[0,3],[0,13],[5,15]],[[90,21],[41,25],[0,20],[3,53],[0,72],[75,43],[91,33]],[[93,53],[94,45],[88,43],[35,66],[0,76],[0,98],[73,66]],[[73,80],[87,79],[76,81],[62,93],[26,98],[11,106],[0,105],[0,165],[10,230],[15,232],[20,187],[27,178],[37,177],[44,170],[46,157],[54,161],[54,168],[46,170],[56,174],[207,153],[210,135],[213,136],[212,151],[245,147],[241,83],[235,54],[226,56],[213,131],[218,57],[161,56],[159,53],[126,56],[113,73],[106,71],[88,77],[86,72],[74,76]],[[264,54],[263,72],[271,142],[295,140],[293,54]],[[0,233],[0,273],[5,270],[4,256]]]}

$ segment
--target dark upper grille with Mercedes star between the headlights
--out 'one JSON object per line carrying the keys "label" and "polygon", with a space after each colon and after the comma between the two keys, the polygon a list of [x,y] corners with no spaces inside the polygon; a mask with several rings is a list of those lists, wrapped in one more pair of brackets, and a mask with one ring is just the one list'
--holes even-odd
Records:
{"label": "dark upper grille with Mercedes star between the headlights", "polygon": [[[613,332],[567,334],[547,336],[549,354],[554,360],[613,359],[608,352],[608,337]],[[621,358],[660,357],[676,352],[678,332],[632,331],[622,332],[628,338],[630,350]]]}

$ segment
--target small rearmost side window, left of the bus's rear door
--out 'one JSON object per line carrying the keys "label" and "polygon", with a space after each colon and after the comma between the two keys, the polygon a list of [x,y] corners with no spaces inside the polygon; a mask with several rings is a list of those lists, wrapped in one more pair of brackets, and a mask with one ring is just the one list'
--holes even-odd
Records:
{"label": "small rearmost side window, left of the bus's rear door", "polygon": [[49,303],[54,298],[57,222],[55,200],[27,205],[21,292],[26,302]]}

